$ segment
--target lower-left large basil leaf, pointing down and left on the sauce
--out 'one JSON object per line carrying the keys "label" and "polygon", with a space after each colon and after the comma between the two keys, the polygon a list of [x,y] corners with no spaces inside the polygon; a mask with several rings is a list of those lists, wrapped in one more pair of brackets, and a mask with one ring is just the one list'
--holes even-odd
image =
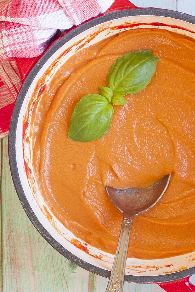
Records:
{"label": "lower-left large basil leaf, pointing down and left on the sauce", "polygon": [[83,96],[71,116],[68,137],[74,141],[93,141],[108,132],[113,116],[113,106],[99,94]]}

